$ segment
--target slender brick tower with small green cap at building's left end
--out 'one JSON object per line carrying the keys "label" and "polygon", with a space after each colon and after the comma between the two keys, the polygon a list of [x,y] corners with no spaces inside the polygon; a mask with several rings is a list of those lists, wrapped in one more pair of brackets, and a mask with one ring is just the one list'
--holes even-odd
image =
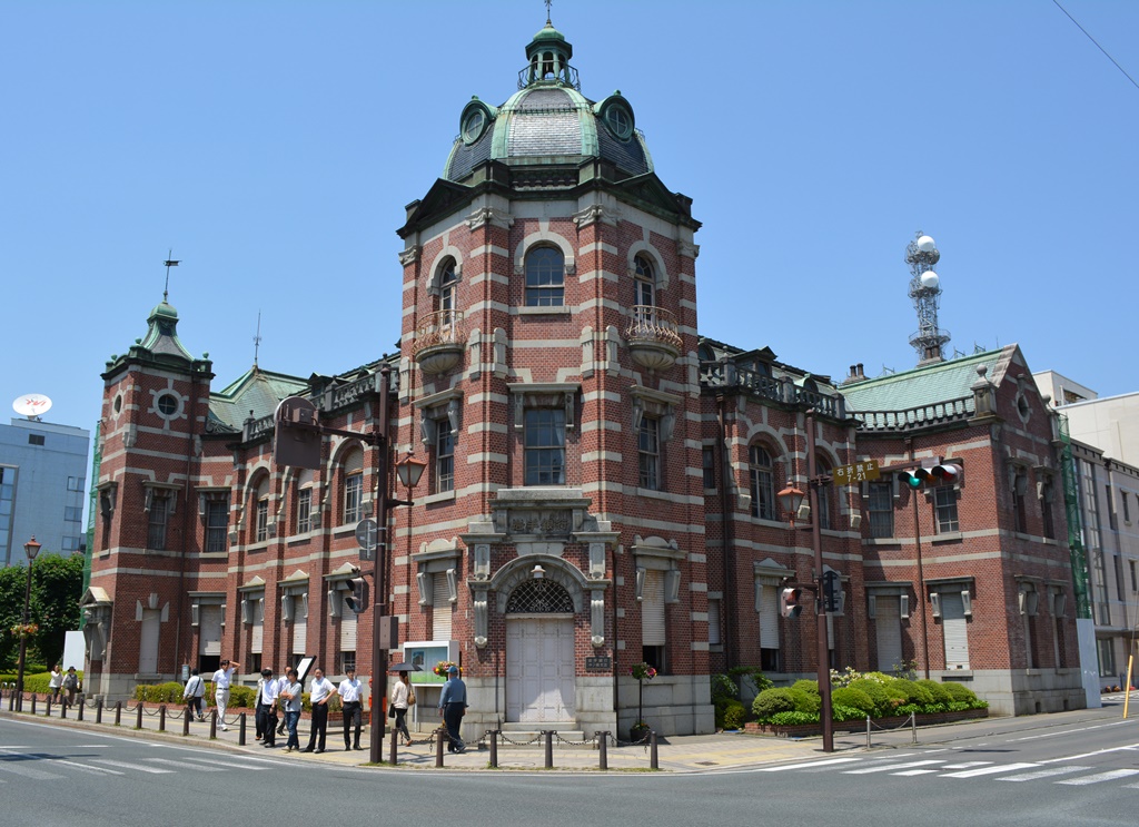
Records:
{"label": "slender brick tower with small green cap at building's left end", "polygon": [[165,296],[147,324],[103,374],[98,534],[83,596],[90,694],[129,695],[177,674],[188,631],[180,619],[195,574],[187,571],[196,557],[190,481],[214,375],[179,341],[178,311]]}

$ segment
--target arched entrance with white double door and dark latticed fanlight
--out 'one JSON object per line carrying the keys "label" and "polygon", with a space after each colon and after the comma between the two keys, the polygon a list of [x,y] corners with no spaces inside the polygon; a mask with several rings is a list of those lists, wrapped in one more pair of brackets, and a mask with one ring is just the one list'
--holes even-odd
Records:
{"label": "arched entrance with white double door and dark latticed fanlight", "polygon": [[506,607],[506,713],[508,721],[573,721],[574,611],[565,587],[525,580]]}

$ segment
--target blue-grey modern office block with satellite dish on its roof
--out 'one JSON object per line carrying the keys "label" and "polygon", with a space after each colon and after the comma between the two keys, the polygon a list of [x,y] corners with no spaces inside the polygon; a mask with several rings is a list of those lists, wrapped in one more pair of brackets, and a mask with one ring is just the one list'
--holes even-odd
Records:
{"label": "blue-grey modern office block with satellite dish on its roof", "polygon": [[84,548],[90,445],[89,431],[68,425],[0,425],[0,564],[24,565],[24,543],[33,534],[48,554]]}

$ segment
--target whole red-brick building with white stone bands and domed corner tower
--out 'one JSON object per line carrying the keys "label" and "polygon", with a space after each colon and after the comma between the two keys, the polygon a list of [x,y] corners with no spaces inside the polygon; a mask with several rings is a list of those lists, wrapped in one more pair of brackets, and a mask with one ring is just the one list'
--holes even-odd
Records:
{"label": "whole red-brick building with white stone bands and domed corner tower", "polygon": [[[826,620],[833,665],[928,661],[1002,711],[1067,704],[1074,645],[1054,597],[1071,590],[1066,548],[1032,517],[1009,522],[1003,482],[1056,467],[1049,412],[1031,377],[1009,375],[1018,351],[983,354],[999,369],[965,402],[918,398],[980,357],[851,383],[844,399],[770,350],[699,338],[690,199],[657,177],[628,100],[581,95],[559,32],[526,55],[517,93],[465,107],[444,178],[408,207],[399,353],[309,379],[254,368],[213,391],[163,302],[108,362],[88,686],[122,696],[221,654],[251,674],[302,654],[371,672],[372,609],[357,620],[344,596],[377,491],[367,434],[386,363],[390,440],[428,464],[416,505],[391,513],[387,612],[402,640],[456,652],[468,735],[621,731],[640,661],[661,672],[644,715],[677,734],[711,731],[711,673],[813,673],[814,617],[777,606],[784,578],[816,576],[810,534],[775,497],[805,489],[809,409],[821,473],[867,457],[966,468],[951,486],[959,527],[923,541],[924,580],[906,493],[822,490],[812,518],[845,590]],[[953,380],[929,382],[937,371]],[[325,437],[317,470],[276,466],[272,412],[289,395],[361,439]],[[947,509],[931,496],[923,535]],[[887,500],[895,533],[875,535]],[[1052,519],[1063,537],[1063,511]],[[878,631],[887,621],[896,634]]]}

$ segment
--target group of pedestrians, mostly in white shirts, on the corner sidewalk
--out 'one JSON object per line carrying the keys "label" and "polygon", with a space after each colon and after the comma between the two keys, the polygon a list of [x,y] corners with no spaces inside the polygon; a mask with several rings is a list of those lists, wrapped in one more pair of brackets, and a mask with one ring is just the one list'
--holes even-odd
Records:
{"label": "group of pedestrians, mostly in white shirts, on the corner sidewalk", "polygon": [[[226,724],[226,707],[229,705],[230,685],[233,674],[240,666],[236,661],[222,661],[221,668],[213,674],[214,699],[218,709],[218,720],[220,729],[228,730]],[[72,670],[74,672],[74,669]],[[52,673],[54,674],[54,673]],[[278,735],[288,735],[285,742],[285,751],[322,753],[325,752],[326,737],[328,732],[328,702],[333,696],[341,698],[341,712],[344,727],[344,750],[362,750],[360,746],[360,734],[363,729],[363,691],[360,680],[357,678],[354,669],[347,670],[347,677],[341,681],[339,686],[334,686],[325,678],[320,669],[312,672],[312,686],[310,687],[309,703],[312,707],[312,730],[309,735],[309,745],[301,748],[296,727],[301,720],[302,696],[304,686],[300,680],[297,671],[292,666],[286,668],[285,673],[279,678],[273,678],[271,669],[261,670],[261,678],[257,680],[257,694],[254,701],[256,739],[264,747],[274,747]],[[206,682],[198,670],[192,670],[189,680],[182,688],[182,699],[187,703],[190,714],[198,721],[205,720],[204,701],[206,694]],[[394,719],[395,731],[400,734],[404,746],[411,746],[411,734],[408,731],[407,713],[416,704],[415,689],[411,687],[408,672],[400,672],[400,680],[392,687],[388,704],[388,715]],[[278,724],[277,710],[284,713],[284,718]],[[462,715],[467,710],[467,687],[459,678],[458,666],[451,666],[448,673],[448,681],[443,685],[440,695],[439,713],[446,726],[449,736],[448,750],[450,752],[466,752],[466,745],[459,735],[459,727],[462,723]]]}

